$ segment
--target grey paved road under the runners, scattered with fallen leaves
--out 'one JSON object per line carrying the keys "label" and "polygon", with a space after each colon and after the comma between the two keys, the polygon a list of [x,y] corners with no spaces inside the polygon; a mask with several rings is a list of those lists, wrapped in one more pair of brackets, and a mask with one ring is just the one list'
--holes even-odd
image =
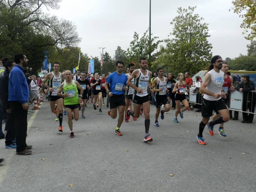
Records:
{"label": "grey paved road under the runners, scattered with fallen leaves", "polygon": [[86,111],[86,119],[74,123],[75,138],[69,138],[66,116],[64,132],[56,131],[48,102],[37,114],[30,113],[32,155],[15,155],[0,140],[0,157],[6,159],[0,166],[0,191],[256,191],[255,123],[229,121],[226,138],[205,130],[207,145],[202,146],[195,139],[200,113],[186,111],[174,123],[171,110],[154,127],[152,106],[153,142],[143,143],[144,116],[124,122],[123,136],[117,136],[117,120],[107,115],[106,106],[99,113],[88,104]]}

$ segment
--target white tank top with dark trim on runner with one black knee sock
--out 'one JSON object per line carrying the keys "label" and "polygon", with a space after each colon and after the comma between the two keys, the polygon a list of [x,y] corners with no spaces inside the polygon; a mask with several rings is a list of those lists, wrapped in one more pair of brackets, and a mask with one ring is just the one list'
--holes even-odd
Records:
{"label": "white tank top with dark trim on runner with one black knee sock", "polygon": [[133,94],[135,94],[139,97],[147,96],[148,95],[148,82],[150,80],[148,70],[147,70],[146,75],[141,73],[140,69],[139,69],[139,73],[140,73],[139,76],[137,78],[134,78],[134,82],[135,82],[135,86],[138,87],[138,88],[141,88],[142,92],[138,93],[134,89]]}

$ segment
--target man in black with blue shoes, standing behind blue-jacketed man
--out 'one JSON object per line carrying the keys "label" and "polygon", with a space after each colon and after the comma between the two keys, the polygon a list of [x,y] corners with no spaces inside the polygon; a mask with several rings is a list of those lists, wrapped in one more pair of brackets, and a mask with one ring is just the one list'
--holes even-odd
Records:
{"label": "man in black with blue shoes, standing behind blue-jacketed man", "polygon": [[0,99],[3,102],[3,112],[5,113],[6,118],[4,133],[5,148],[7,149],[16,149],[16,144],[14,144],[14,117],[10,106],[10,102],[8,101],[9,74],[14,65],[14,61],[8,60],[5,63],[6,70],[4,71],[4,76],[0,78]]}

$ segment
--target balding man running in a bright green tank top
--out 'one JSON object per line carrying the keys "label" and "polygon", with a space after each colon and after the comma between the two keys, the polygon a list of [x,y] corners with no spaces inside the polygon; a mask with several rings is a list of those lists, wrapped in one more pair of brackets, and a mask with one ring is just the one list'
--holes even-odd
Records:
{"label": "balding man running in a bright green tank top", "polygon": [[[61,98],[64,97],[64,105],[68,115],[68,127],[70,129],[69,137],[74,138],[75,135],[73,131],[72,119],[74,118],[76,121],[79,119],[78,107],[83,105],[82,98],[84,89],[80,86],[80,84],[77,81],[71,79],[71,71],[65,71],[65,78],[66,81],[61,83],[57,95]],[[80,89],[81,93],[81,95],[79,95],[79,98],[77,88]],[[62,90],[64,91],[64,94],[61,93]],[[62,129],[59,129],[59,131],[63,132]]]}

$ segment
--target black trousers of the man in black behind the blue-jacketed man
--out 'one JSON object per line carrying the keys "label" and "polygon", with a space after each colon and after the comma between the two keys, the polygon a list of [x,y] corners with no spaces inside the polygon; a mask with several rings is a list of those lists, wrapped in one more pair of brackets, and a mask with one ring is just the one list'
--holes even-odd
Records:
{"label": "black trousers of the man in black behind the blue-jacketed man", "polygon": [[[4,109],[6,111],[6,109]],[[5,112],[5,145],[11,145],[12,140],[15,138],[14,136],[14,116],[12,113]]]}

